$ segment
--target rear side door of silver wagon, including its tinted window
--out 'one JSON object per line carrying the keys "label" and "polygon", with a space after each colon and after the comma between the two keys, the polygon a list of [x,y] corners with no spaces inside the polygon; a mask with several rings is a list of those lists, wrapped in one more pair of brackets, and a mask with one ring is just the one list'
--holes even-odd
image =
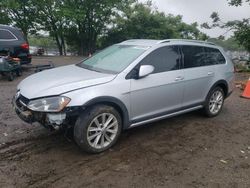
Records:
{"label": "rear side door of silver wagon, including its tinted window", "polygon": [[214,66],[202,46],[183,45],[183,70],[185,77],[183,107],[200,105],[213,83]]}

